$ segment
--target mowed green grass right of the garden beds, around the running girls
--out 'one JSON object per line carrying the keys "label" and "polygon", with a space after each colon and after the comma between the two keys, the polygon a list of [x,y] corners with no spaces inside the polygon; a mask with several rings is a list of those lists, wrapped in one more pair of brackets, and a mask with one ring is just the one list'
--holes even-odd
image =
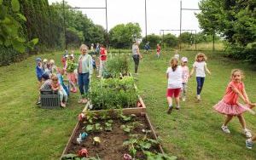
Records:
{"label": "mowed green grass right of the garden beds, around the running girls", "polygon": [[[217,53],[206,53],[207,66],[212,76],[206,77],[201,98],[196,102],[195,75],[189,79],[188,98],[181,103],[180,111],[167,115],[166,69],[173,51],[165,51],[160,60],[155,53],[144,55],[138,75],[138,89],[141,94],[154,127],[163,140],[167,153],[179,159],[255,159],[256,147],[249,151],[245,147],[245,136],[241,134],[241,125],[237,118],[231,121],[231,134],[224,134],[220,129],[224,116],[212,110],[224,95],[230,81],[230,71],[241,68],[245,71],[245,86],[249,98],[256,102],[256,72],[241,61],[233,61]],[[189,58],[189,69],[195,60],[195,52],[180,52],[181,57]],[[244,114],[247,128],[256,134],[256,117]]]}

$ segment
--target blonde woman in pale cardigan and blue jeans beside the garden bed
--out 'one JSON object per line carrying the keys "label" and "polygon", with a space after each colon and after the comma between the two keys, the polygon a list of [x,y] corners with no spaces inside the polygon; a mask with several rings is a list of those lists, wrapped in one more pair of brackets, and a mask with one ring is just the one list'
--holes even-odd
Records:
{"label": "blonde woman in pale cardigan and blue jeans beside the garden bed", "polygon": [[79,56],[79,90],[81,93],[81,100],[79,103],[86,103],[86,95],[89,89],[90,77],[93,71],[92,58],[90,54],[87,54],[88,47],[85,44],[80,46]]}

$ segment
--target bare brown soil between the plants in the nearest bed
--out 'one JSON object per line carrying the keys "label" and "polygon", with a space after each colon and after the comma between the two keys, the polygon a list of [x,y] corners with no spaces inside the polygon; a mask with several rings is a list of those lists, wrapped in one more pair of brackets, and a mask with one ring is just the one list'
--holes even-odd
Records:
{"label": "bare brown soil between the plants in the nearest bed", "polygon": [[[130,134],[140,134],[144,135],[143,129],[149,130],[149,126],[147,123],[147,120],[145,117],[136,117],[135,122],[139,123],[135,129],[131,130]],[[76,130],[73,139],[71,140],[71,145],[67,148],[67,153],[74,153],[76,154],[80,149],[86,148],[87,151],[89,152],[90,157],[100,157],[102,160],[119,160],[119,159],[124,159],[124,154],[129,153],[128,146],[123,146],[123,142],[125,140],[128,140],[129,134],[126,134],[123,129],[120,129],[120,126],[122,124],[129,124],[132,122],[128,123],[123,123],[119,119],[113,119],[113,125],[112,131],[105,131],[105,125],[104,122],[96,122],[96,123],[101,123],[103,130],[99,133],[89,133],[88,137],[79,144],[77,142],[77,138],[79,137],[79,134],[84,132],[85,129],[83,129],[86,124],[80,123],[79,129]],[[94,146],[93,145],[93,138],[94,137],[100,137],[101,139],[101,144],[99,146]],[[153,139],[152,135],[148,135],[148,138]],[[158,146],[152,146],[150,151],[157,151],[160,152]],[[137,156],[136,158],[138,159],[146,159],[146,157],[143,156],[142,151],[137,151]]]}

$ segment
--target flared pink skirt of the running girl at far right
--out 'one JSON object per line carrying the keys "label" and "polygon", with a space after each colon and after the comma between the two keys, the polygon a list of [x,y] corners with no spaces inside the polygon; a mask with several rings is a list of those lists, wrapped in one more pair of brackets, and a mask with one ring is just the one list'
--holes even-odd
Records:
{"label": "flared pink skirt of the running girl at far right", "polygon": [[229,105],[224,102],[224,100],[220,100],[218,104],[213,106],[213,109],[218,111],[221,114],[224,115],[231,115],[231,116],[237,116],[243,113],[244,111],[247,111],[247,106],[243,106],[240,103],[237,103],[236,105]]}

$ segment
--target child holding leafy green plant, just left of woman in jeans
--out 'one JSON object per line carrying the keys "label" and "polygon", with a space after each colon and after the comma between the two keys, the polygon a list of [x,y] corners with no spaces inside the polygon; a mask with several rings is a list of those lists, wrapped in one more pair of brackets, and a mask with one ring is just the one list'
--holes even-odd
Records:
{"label": "child holding leafy green plant, just left of woman in jeans", "polygon": [[74,70],[76,69],[76,65],[75,65],[75,61],[74,61],[74,55],[71,54],[69,59],[67,60],[67,78],[69,83],[71,84],[71,89],[70,91],[73,93],[77,92],[77,88],[76,88],[76,75],[74,73]]}

